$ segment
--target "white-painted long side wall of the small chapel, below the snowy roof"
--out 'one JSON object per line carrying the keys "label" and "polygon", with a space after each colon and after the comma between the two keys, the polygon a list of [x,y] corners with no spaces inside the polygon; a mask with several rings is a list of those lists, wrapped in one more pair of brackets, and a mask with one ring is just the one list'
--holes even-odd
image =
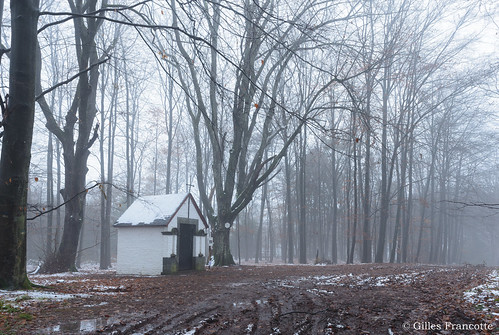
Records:
{"label": "white-painted long side wall of the small chapel, below the snowy roof", "polygon": [[[163,257],[169,257],[165,227],[120,227],[118,229],[119,274],[160,275]],[[168,254],[168,256],[165,256]]]}

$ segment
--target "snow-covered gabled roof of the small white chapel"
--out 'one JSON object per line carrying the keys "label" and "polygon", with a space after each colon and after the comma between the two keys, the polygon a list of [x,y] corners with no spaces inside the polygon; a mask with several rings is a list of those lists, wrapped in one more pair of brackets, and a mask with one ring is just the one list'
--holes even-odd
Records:
{"label": "snow-covered gabled roof of the small white chapel", "polygon": [[168,226],[189,196],[201,220],[207,226],[196,201],[188,193],[149,195],[137,198],[114,225],[117,227]]}

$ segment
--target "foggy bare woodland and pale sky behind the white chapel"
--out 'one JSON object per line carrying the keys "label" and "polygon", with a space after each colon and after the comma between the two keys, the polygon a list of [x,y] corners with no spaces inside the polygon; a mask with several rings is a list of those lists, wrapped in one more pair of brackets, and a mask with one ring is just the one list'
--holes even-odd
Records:
{"label": "foggy bare woodland and pale sky behind the white chapel", "polygon": [[219,265],[499,265],[493,1],[92,3],[41,1],[30,265],[188,191]]}

